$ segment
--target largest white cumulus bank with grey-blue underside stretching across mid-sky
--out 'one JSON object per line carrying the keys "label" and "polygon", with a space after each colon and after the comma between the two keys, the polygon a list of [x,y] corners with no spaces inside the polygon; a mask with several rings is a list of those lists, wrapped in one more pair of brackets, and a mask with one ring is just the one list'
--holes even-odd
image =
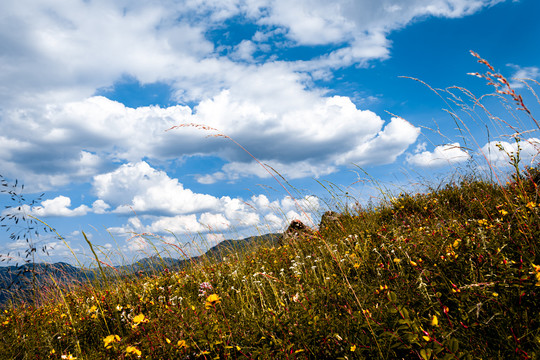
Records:
{"label": "largest white cumulus bank with grey-blue underside stretching across mid-sky", "polygon": [[[226,131],[259,160],[290,178],[326,175],[343,163],[390,163],[416,141],[419,130],[401,119],[392,119],[384,127],[384,120],[359,110],[349,98],[308,92],[294,77],[280,83],[290,85],[284,94],[276,95],[281,92],[277,86],[262,91],[255,90],[257,83],[246,84],[242,90],[222,91],[193,110],[187,106],[132,109],[98,96],[49,107],[43,115],[13,112],[18,127],[10,128],[8,134],[36,140],[0,145],[0,152],[6,154],[0,164],[45,179],[41,186],[47,188],[87,181],[110,169],[111,160],[219,156],[228,164],[213,175],[198,177],[199,182],[210,184],[242,176],[267,177],[268,173],[232,141],[205,139],[214,132],[166,129],[199,123]],[[15,141],[20,142],[11,142]]]}

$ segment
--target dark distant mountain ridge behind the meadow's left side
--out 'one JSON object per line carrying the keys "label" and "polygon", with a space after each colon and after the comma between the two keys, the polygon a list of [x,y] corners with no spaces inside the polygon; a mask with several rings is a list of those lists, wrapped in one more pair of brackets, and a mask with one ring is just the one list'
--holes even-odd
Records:
{"label": "dark distant mountain ridge behind the meadow's left side", "polygon": [[[135,273],[150,275],[159,273],[166,268],[175,271],[204,258],[221,261],[228,254],[242,253],[254,246],[275,246],[280,236],[280,233],[273,233],[250,236],[241,240],[224,240],[208,249],[203,255],[190,259],[174,259],[156,255],[143,258],[131,265],[116,266],[115,268],[102,267],[102,270],[107,277],[119,274],[123,277]],[[45,286],[56,286],[55,282],[69,285],[92,280],[98,281],[102,278],[100,272],[99,268],[81,269],[65,262],[0,267],[0,306],[9,301],[12,296],[17,299],[31,300],[34,288],[42,290]]]}

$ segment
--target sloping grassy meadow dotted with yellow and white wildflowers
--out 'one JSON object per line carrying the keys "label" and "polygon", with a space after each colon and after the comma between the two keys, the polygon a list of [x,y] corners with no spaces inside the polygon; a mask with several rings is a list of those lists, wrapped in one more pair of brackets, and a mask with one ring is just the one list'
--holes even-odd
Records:
{"label": "sloping grassy meadow dotted with yellow and white wildflowers", "polygon": [[[504,77],[478,76],[535,126]],[[540,167],[508,155],[509,173],[348,202],[282,246],[51,278],[2,309],[0,358],[538,359]]]}

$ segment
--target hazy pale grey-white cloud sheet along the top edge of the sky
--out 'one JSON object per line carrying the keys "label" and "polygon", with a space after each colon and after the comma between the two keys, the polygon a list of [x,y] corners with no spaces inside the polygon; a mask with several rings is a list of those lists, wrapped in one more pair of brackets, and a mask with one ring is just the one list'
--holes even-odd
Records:
{"label": "hazy pale grey-white cloud sheet along the top edge of the sky", "polygon": [[[271,48],[279,37],[287,47],[340,46],[314,56],[309,71],[365,64],[387,58],[388,34],[416,19],[462,17],[502,1],[4,1],[0,65],[9,71],[0,74],[0,105],[74,101],[125,74],[142,83],[164,81],[181,98],[200,101],[249,70],[237,59]],[[238,16],[259,31],[227,45],[234,51],[221,56],[207,34]]]}

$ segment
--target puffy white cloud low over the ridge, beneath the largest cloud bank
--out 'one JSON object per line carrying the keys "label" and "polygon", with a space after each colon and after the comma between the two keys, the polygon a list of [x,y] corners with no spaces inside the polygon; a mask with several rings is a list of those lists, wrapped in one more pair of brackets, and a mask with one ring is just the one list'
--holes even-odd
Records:
{"label": "puffy white cloud low over the ridge, beneath the largest cloud bank", "polygon": [[[129,172],[136,174],[130,175]],[[138,180],[126,182],[127,179]],[[128,201],[129,208],[142,215],[130,217],[124,226],[109,229],[121,235],[231,233],[256,228],[279,231],[293,219],[313,224],[313,214],[320,209],[319,200],[314,196],[270,201],[262,194],[244,200],[193,193],[184,189],[176,179],[144,162],[122,165],[115,172],[99,175],[94,186],[96,194],[107,200],[107,203],[102,199],[94,202],[94,212],[108,203],[118,205],[114,212],[123,212],[128,206],[119,204]],[[211,206],[205,205],[205,201]]]}

